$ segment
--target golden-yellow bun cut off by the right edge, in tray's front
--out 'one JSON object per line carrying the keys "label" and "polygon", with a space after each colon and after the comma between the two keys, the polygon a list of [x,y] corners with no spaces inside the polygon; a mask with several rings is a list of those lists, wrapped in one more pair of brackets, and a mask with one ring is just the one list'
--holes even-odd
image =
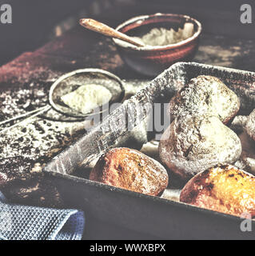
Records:
{"label": "golden-yellow bun cut off by the right edge, in tray's front", "polygon": [[225,214],[255,216],[255,177],[234,166],[216,166],[193,177],[180,201]]}

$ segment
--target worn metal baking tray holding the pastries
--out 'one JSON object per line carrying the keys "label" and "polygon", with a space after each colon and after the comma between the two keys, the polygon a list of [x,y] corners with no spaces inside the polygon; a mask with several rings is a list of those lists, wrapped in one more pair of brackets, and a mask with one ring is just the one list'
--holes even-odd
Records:
{"label": "worn metal baking tray holding the pastries", "polygon": [[[153,130],[145,130],[153,114],[146,111],[137,113],[137,102],[143,105],[148,102],[169,102],[169,98],[181,86],[200,74],[220,78],[235,91],[241,99],[239,114],[249,114],[255,108],[255,73],[194,62],[174,64],[45,166],[46,175],[50,175],[58,186],[66,206],[85,210],[88,222],[90,218],[98,218],[158,238],[255,238],[254,221],[251,232],[242,232],[241,218],[190,206],[175,199],[106,186],[88,179],[90,167],[107,149],[115,146],[141,149],[154,138]],[[126,111],[132,107],[135,116],[139,115],[140,119],[134,118],[133,130],[129,132]],[[174,183],[173,179],[169,177],[170,184]]]}

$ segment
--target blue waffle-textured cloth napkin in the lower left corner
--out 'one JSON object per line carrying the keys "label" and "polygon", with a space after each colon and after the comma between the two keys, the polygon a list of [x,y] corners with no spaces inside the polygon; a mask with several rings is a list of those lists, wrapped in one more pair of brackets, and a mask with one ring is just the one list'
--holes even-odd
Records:
{"label": "blue waffle-textured cloth napkin in the lower left corner", "polygon": [[2,240],[80,240],[84,225],[82,211],[9,204],[0,192]]}

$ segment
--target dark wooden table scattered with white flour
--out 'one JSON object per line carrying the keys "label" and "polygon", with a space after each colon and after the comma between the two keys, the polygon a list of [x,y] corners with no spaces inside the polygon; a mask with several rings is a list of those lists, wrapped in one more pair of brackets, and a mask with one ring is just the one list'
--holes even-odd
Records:
{"label": "dark wooden table scattered with white flour", "polygon": [[[194,62],[253,71],[254,40],[203,34]],[[0,120],[44,106],[51,84],[60,75],[86,67],[108,70],[127,81],[148,79],[129,70],[109,38],[76,27],[0,67]],[[79,122],[42,116],[0,134],[0,190],[10,202],[65,207],[61,194],[42,174],[42,166],[85,133]],[[87,223],[85,238],[153,237],[94,220]]]}

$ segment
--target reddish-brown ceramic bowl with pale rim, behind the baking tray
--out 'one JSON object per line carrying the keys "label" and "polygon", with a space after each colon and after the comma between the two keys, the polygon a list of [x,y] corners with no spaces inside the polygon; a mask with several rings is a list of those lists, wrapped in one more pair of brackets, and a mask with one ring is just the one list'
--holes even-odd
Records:
{"label": "reddish-brown ceramic bowl with pale rim, behind the baking tray", "polygon": [[141,74],[156,76],[175,62],[191,61],[196,54],[201,35],[201,23],[181,14],[153,14],[130,18],[116,30],[133,37],[141,37],[154,27],[165,29],[183,28],[186,22],[193,23],[191,37],[166,46],[137,47],[114,38],[119,54],[128,66]]}

